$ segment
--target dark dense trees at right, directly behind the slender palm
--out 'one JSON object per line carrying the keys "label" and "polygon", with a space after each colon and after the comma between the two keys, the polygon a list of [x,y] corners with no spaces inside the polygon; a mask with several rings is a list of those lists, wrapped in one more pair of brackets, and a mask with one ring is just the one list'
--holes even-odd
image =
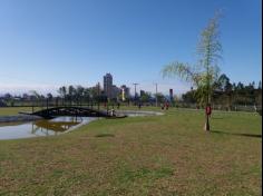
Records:
{"label": "dark dense trees at right, directly behind the slender palm", "polygon": [[[193,89],[182,96],[184,102],[195,104],[197,108],[205,106],[202,89]],[[262,82],[254,81],[249,85],[242,82],[231,82],[230,78],[223,74],[212,85],[211,100],[213,105],[220,105],[227,110],[235,110],[238,105],[242,106],[262,106]]]}

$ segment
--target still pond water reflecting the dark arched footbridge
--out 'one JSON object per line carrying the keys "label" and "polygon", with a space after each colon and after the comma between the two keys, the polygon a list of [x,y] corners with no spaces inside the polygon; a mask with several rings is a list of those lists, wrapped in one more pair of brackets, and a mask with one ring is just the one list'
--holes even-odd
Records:
{"label": "still pond water reflecting the dark arched footbridge", "polygon": [[57,117],[27,122],[0,122],[0,140],[65,134],[97,119],[96,117]]}

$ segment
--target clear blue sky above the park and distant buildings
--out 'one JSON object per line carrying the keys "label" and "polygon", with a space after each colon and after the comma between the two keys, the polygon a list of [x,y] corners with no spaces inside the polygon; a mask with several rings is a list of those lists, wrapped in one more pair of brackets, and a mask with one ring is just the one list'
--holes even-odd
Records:
{"label": "clear blue sky above the park and distant buildings", "polygon": [[183,94],[164,79],[173,61],[195,63],[202,30],[222,10],[218,66],[232,82],[262,78],[260,0],[0,0],[0,94],[56,92],[62,85],[139,84]]}

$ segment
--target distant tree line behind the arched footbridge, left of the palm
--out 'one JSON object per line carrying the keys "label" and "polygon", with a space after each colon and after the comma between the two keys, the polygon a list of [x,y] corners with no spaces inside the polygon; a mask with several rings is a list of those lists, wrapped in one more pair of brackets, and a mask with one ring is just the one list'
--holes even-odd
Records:
{"label": "distant tree line behind the arched footbridge, left of the palm", "polygon": [[[11,94],[6,94],[0,97],[0,106],[13,106],[14,102],[46,102],[49,104],[59,101],[60,105],[81,105],[81,104],[91,104],[91,102],[118,102],[123,98],[121,92],[116,98],[111,98],[110,100],[104,94],[103,88],[99,84],[95,87],[82,87],[78,86],[61,86],[57,90],[57,95],[51,92],[47,95],[39,94],[36,90],[31,90],[29,94],[22,94],[21,96],[12,96]],[[125,95],[126,102],[142,102],[154,105],[155,99],[157,98],[158,102],[166,101],[166,98],[163,94],[158,92],[157,95],[152,95],[148,91],[143,91],[143,94],[137,95],[136,97],[129,97],[129,95]]]}

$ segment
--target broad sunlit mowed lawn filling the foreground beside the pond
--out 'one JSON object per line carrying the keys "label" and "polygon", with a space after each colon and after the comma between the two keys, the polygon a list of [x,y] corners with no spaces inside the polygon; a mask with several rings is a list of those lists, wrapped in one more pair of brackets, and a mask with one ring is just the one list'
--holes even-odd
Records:
{"label": "broad sunlit mowed lawn filling the foreground beside the pond", "polygon": [[261,195],[261,116],[211,120],[205,133],[203,111],[171,109],[0,140],[0,195]]}

